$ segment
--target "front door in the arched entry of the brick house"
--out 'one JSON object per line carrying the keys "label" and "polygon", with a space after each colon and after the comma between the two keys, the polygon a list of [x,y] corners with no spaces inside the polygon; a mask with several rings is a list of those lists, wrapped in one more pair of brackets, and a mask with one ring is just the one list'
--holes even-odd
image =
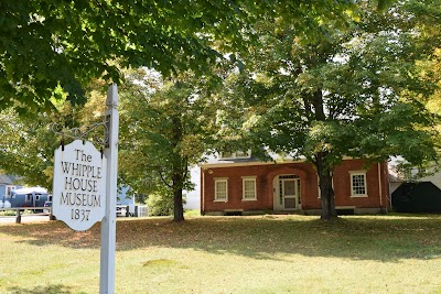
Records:
{"label": "front door in the arched entry of the brick house", "polygon": [[280,175],[276,188],[275,210],[300,209],[300,177]]}

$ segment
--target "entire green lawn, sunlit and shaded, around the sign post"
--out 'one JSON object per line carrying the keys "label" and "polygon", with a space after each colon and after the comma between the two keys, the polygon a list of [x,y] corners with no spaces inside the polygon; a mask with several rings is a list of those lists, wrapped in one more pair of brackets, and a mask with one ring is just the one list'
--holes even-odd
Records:
{"label": "entire green lawn, sunlit and shaded, around the sign post", "polygon": [[[0,293],[98,293],[99,224],[0,225]],[[441,216],[119,218],[116,293],[441,293]]]}

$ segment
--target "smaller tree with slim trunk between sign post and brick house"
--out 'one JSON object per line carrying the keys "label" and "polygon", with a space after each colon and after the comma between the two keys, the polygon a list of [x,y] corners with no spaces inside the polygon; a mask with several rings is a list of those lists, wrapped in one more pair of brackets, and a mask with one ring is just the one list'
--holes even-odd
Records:
{"label": "smaller tree with slim trunk between sign post and brick house", "polygon": [[142,69],[121,88],[121,176],[136,192],[173,197],[173,220],[182,221],[189,168],[198,163],[214,132],[215,104],[204,80],[191,73],[154,80]]}

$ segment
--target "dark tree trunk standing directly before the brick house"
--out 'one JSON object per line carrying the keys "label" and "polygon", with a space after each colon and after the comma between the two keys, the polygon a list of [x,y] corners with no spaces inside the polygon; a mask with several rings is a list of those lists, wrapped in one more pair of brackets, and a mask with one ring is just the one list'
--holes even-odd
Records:
{"label": "dark tree trunk standing directly before the brick house", "polygon": [[316,155],[315,166],[319,175],[320,197],[322,200],[321,219],[331,220],[337,217],[334,202],[334,189],[332,188],[332,170],[326,164],[326,153]]}

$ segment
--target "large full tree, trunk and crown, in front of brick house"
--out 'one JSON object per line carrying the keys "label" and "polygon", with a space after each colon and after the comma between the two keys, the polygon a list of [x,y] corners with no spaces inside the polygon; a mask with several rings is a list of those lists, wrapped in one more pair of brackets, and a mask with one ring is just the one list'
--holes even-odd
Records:
{"label": "large full tree, trunk and crown, in front of brick house", "polygon": [[433,88],[417,66],[424,51],[412,11],[362,4],[346,28],[306,17],[315,28],[306,35],[289,19],[262,15],[260,45],[245,58],[251,69],[232,75],[224,91],[223,134],[248,140],[255,154],[266,146],[311,162],[326,220],[336,217],[332,176],[343,156],[373,163],[399,154],[417,165],[435,156],[424,107]]}

